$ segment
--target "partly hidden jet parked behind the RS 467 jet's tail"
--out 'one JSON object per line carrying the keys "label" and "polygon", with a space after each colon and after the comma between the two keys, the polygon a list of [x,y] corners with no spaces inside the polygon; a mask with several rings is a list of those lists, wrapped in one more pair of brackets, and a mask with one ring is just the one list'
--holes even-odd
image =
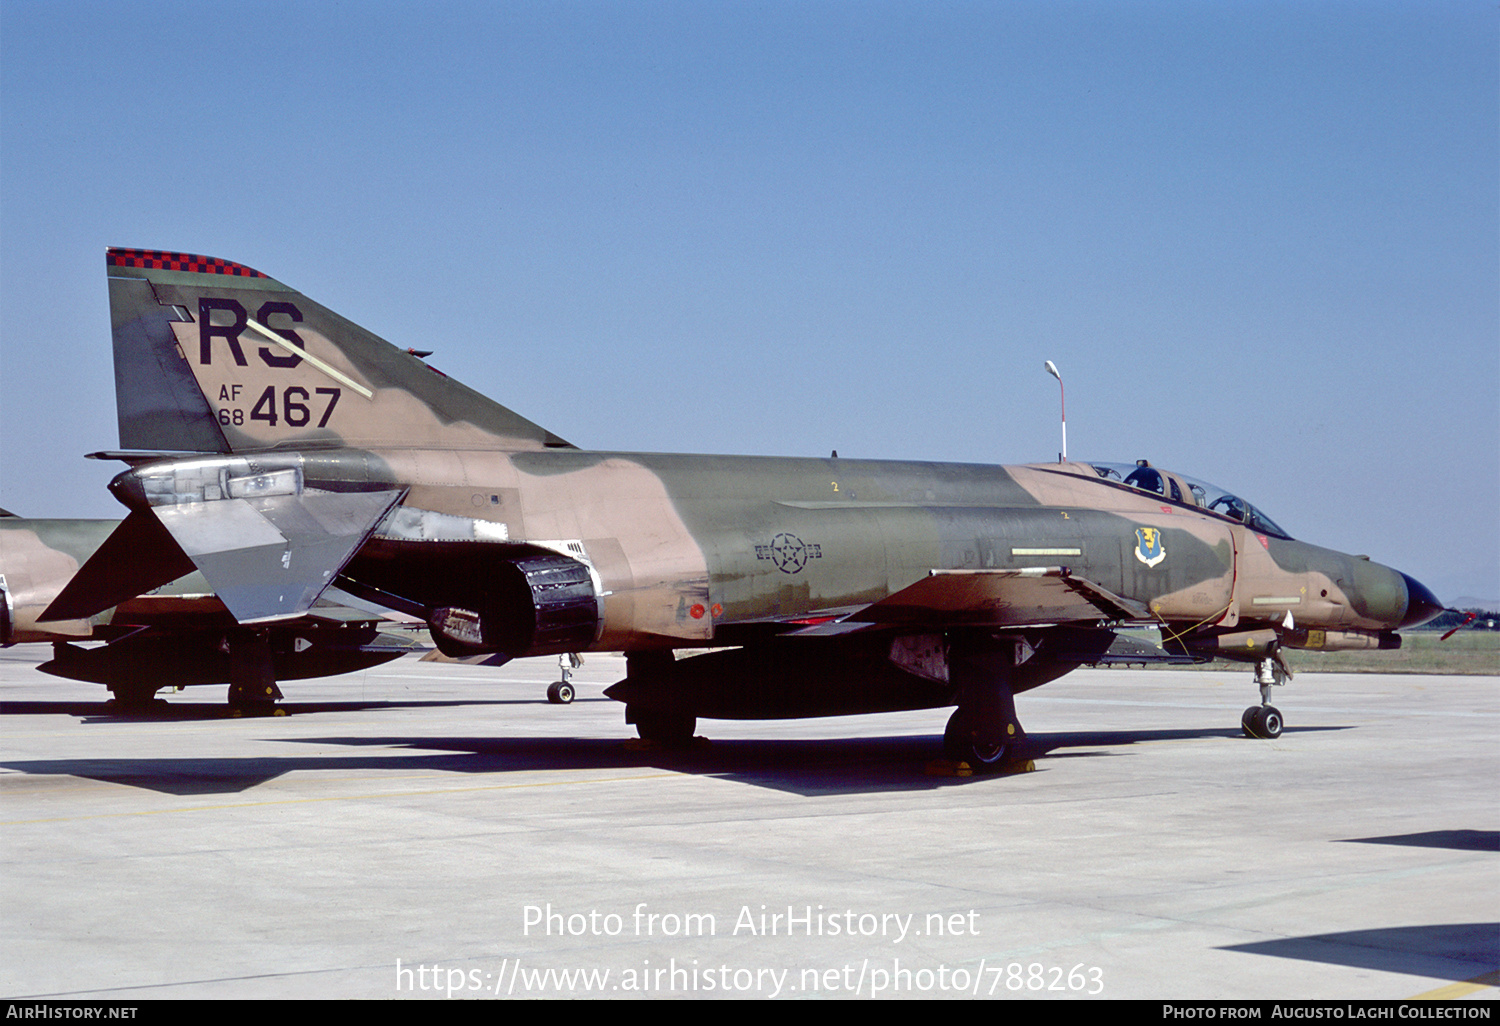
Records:
{"label": "partly hidden jet parked behind the RS 467 jet's tail", "polygon": [[[153,576],[176,572],[176,580],[112,609],[39,622],[78,567],[118,526],[118,520],[28,519],[0,510],[0,646],[51,642],[52,658],[38,669],[105,684],[122,711],[148,706],[162,688],[228,682],[234,652],[226,639],[243,628],[186,558],[152,567]],[[129,574],[132,566],[142,564],[126,560],[116,570]],[[322,598],[306,615],[272,626],[266,636],[272,675],[242,674],[258,680],[261,690],[234,688],[230,705],[264,710],[280,698],[276,678],[348,674],[411,651],[399,636],[380,636],[380,615]]]}

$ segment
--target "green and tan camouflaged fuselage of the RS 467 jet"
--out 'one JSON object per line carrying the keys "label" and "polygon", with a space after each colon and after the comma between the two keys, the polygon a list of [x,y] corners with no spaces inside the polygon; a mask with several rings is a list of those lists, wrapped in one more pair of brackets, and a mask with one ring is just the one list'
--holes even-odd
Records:
{"label": "green and tan camouflaged fuselage of the RS 467 jet", "polygon": [[[1407,614],[1404,579],[1388,567],[1102,482],[1082,464],[308,450],[152,462],[112,488],[132,508],[180,506],[213,501],[210,478],[291,470],[314,492],[404,489],[345,573],[428,608],[490,602],[495,564],[524,549],[585,564],[598,615],[586,644],[568,636],[570,651],[705,646],[726,630],[837,620],[933,570],[1065,567],[1143,620],[1188,630],[1292,614],[1302,628],[1389,632]],[[951,612],[960,626],[1036,621],[988,616],[982,603]]]}

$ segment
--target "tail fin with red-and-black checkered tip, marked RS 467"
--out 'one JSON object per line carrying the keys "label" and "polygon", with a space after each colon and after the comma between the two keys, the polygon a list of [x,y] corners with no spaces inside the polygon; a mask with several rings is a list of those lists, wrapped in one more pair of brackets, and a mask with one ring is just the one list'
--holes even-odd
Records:
{"label": "tail fin with red-and-black checkered tip, marked RS 467", "polygon": [[105,264],[123,448],[570,448],[243,264],[150,249]]}

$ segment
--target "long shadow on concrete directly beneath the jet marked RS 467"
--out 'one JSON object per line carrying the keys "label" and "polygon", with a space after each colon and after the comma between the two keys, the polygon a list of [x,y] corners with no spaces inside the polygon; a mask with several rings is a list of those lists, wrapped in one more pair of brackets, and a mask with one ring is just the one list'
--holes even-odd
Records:
{"label": "long shadow on concrete directly beneath the jet marked RS 467", "polygon": [[[504,774],[657,768],[820,796],[1000,783],[1017,772],[1046,770],[1050,759],[1108,758],[1120,754],[1112,748],[1148,741],[1214,738],[1250,744],[1238,730],[1230,729],[1034,734],[1028,736],[1016,764],[999,772],[972,777],[956,776],[951,764],[940,762],[942,738],[928,735],[698,740],[687,748],[662,748],[624,736],[300,736],[267,740],[324,748],[339,746],[351,753],[226,759],[18,759],[0,765],[18,772],[84,777],[171,795],[242,794],[302,770]],[[386,752],[354,754],[356,748]]]}

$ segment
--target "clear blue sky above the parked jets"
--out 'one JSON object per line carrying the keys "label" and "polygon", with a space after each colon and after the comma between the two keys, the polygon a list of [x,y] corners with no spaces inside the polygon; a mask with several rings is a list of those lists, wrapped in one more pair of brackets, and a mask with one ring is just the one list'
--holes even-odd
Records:
{"label": "clear blue sky above the parked jets", "polygon": [[104,249],[590,448],[1149,458],[1500,600],[1492,3],[0,0],[0,506],[117,516]]}

